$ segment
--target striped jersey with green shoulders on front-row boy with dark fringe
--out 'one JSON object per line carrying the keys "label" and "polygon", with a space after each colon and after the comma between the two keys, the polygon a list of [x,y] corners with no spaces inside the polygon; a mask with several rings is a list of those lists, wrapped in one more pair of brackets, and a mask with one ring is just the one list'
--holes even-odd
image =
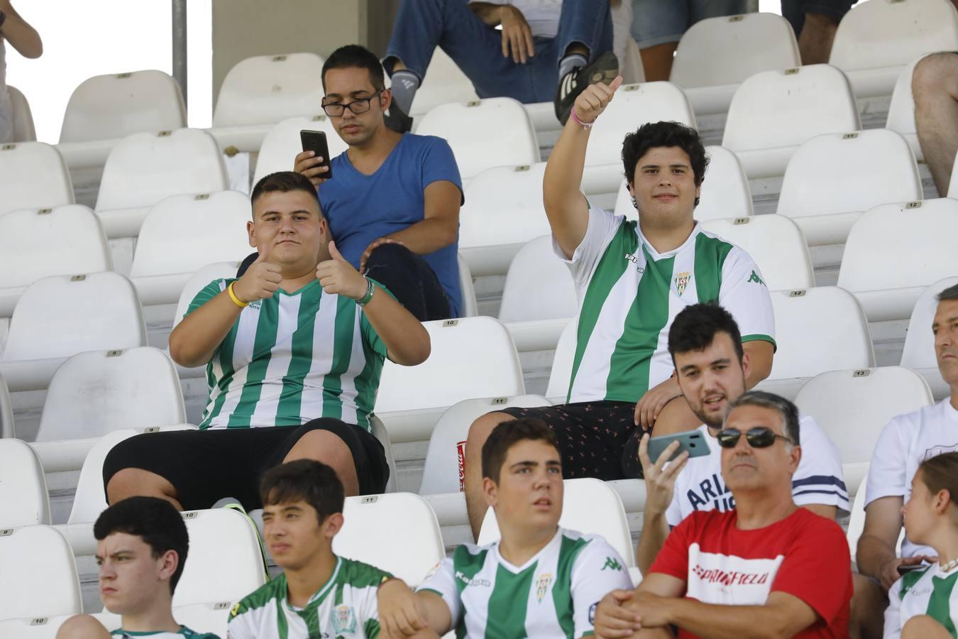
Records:
{"label": "striped jersey with green shoulders on front-row boy with dark fringe", "polygon": [[233,606],[229,639],[376,639],[376,590],[392,575],[361,561],[336,558],[330,580],[304,608],[286,599],[285,573]]}

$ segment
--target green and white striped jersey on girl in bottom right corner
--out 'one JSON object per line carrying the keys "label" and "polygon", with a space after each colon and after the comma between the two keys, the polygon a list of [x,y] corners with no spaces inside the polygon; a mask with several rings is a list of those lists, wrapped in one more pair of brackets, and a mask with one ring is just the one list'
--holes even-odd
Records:
{"label": "green and white striped jersey on girl in bottom right corner", "polygon": [[938,562],[905,573],[888,591],[885,639],[899,639],[901,628],[915,615],[928,615],[958,637],[958,569],[942,572]]}

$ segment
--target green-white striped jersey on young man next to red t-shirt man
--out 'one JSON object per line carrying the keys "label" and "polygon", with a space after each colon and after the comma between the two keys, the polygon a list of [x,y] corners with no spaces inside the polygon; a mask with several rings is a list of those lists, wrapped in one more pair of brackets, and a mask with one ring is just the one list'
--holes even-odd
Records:
{"label": "green-white striped jersey on young man next to red t-shirt man", "polygon": [[615,588],[632,588],[625,561],[601,537],[559,528],[536,557],[513,566],[499,542],[462,544],[418,591],[439,594],[456,636],[578,639],[593,634],[595,608]]}

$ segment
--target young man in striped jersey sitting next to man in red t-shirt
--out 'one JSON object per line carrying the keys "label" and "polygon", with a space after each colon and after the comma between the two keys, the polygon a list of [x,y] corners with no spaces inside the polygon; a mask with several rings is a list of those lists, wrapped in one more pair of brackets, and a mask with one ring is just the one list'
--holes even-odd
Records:
{"label": "young man in striped jersey sitting next to man in red t-shirt", "polygon": [[502,538],[463,544],[413,594],[392,580],[379,588],[390,637],[579,639],[595,607],[628,588],[625,561],[601,536],[559,527],[562,468],[556,435],[541,420],[496,427],[483,446],[483,490]]}

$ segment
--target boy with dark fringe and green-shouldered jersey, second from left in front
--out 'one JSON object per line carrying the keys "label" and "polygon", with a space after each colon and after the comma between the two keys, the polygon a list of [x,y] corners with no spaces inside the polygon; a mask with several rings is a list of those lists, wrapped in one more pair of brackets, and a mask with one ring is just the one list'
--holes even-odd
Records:
{"label": "boy with dark fringe and green-shouldered jersey, second from left in front", "polygon": [[230,613],[229,639],[376,639],[376,588],[392,577],[332,552],[343,527],[343,485],[332,468],[300,459],[266,471],[263,540],[283,574]]}

